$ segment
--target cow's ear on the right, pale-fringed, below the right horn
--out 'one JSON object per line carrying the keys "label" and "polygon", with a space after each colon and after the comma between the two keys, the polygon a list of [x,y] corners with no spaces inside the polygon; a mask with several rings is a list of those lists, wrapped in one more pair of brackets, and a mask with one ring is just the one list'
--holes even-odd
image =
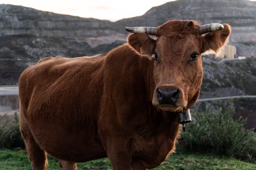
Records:
{"label": "cow's ear on the right, pale-fringed, below the right horn", "polygon": [[215,53],[218,53],[220,51],[231,33],[231,28],[228,24],[223,24],[223,26],[224,29],[221,31],[214,31],[202,36],[201,53],[206,51],[214,51]]}

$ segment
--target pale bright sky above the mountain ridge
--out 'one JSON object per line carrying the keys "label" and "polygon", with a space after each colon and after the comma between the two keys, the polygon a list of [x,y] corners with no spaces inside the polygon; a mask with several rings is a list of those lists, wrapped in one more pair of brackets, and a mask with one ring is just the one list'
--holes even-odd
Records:
{"label": "pale bright sky above the mountain ridge", "polygon": [[150,8],[171,1],[175,0],[0,0],[0,4],[22,5],[42,11],[114,22],[141,16]]}

